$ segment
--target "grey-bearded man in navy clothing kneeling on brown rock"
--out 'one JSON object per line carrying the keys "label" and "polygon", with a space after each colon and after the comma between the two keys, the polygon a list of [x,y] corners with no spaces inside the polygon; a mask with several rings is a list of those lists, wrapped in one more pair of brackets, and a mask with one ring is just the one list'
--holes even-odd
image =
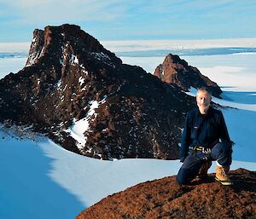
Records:
{"label": "grey-bearded man in navy clothing kneeling on brown rock", "polygon": [[196,176],[207,176],[212,160],[217,160],[215,179],[223,185],[232,185],[229,170],[232,162],[233,141],[222,112],[210,107],[211,91],[198,89],[197,107],[188,112],[181,140],[180,159],[183,163],[177,173],[177,182],[186,184]]}

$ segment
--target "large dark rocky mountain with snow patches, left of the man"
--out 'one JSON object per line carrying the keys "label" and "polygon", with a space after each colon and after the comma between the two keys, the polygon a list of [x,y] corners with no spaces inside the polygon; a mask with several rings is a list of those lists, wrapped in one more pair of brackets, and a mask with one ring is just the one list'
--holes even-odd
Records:
{"label": "large dark rocky mountain with snow patches, left of the man", "polygon": [[93,158],[178,158],[194,102],[74,25],[35,30],[26,66],[0,80],[0,122]]}

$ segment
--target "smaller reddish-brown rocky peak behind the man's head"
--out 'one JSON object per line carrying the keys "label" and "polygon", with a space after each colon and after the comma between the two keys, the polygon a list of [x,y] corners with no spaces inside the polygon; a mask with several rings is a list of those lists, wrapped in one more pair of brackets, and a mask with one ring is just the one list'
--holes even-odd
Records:
{"label": "smaller reddish-brown rocky peak behind the man's head", "polygon": [[202,75],[196,67],[189,66],[188,62],[180,59],[178,55],[167,55],[163,64],[154,70],[154,75],[168,84],[177,84],[184,91],[189,91],[190,87],[207,87],[213,96],[220,98],[222,93],[218,84]]}

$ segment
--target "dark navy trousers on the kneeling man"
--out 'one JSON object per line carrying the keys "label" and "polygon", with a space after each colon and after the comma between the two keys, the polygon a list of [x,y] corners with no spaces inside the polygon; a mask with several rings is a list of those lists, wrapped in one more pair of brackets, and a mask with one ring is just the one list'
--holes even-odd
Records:
{"label": "dark navy trousers on the kneeling man", "polygon": [[218,164],[223,166],[230,166],[232,162],[231,158],[232,147],[223,142],[219,142],[212,147],[210,154],[196,151],[195,155],[189,154],[177,173],[177,182],[180,184],[186,184],[193,180],[201,168],[201,165],[205,162],[203,158],[207,157],[208,160],[217,160]]}

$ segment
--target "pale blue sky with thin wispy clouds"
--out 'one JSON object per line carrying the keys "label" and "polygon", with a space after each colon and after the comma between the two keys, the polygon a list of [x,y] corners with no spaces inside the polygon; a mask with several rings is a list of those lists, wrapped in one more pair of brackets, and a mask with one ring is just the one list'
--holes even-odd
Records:
{"label": "pale blue sky with thin wispy clouds", "polygon": [[256,37],[255,11],[255,0],[0,0],[0,42],[63,23],[99,40]]}

